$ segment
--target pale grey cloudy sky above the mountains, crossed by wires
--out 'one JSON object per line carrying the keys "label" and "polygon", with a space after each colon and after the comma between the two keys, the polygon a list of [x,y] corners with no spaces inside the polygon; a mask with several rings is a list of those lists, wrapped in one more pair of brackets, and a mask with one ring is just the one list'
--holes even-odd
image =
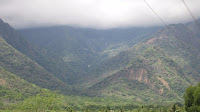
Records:
{"label": "pale grey cloudy sky above the mountains, crossed by wires", "polygon": [[[146,0],[167,24],[192,21],[182,0]],[[196,18],[200,0],[185,0]],[[162,25],[143,0],[0,0],[0,18],[15,28],[71,25],[116,28]]]}

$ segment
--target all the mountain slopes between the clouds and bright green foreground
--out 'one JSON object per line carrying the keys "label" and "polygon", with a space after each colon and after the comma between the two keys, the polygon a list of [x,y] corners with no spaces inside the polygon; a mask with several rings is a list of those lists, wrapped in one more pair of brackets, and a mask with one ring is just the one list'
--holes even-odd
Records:
{"label": "all the mountain slopes between the clouds and bright green foreground", "polygon": [[57,26],[20,30],[23,37],[0,23],[0,66],[40,87],[67,92],[71,84],[79,89],[74,92],[92,97],[172,103],[182,102],[185,89],[200,81],[194,23],[157,33]]}

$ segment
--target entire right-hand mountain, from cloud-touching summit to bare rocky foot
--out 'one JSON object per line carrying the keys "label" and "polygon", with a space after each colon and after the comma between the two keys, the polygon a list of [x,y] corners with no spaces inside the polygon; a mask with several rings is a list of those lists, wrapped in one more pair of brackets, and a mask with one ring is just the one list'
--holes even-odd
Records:
{"label": "entire right-hand mountain, from cloud-touching summit to bare rocky foot", "polygon": [[115,56],[108,61],[113,63],[110,68],[119,65],[120,70],[100,75],[96,84],[91,81],[94,85],[89,88],[90,94],[141,103],[181,102],[185,88],[200,81],[198,30],[194,23],[170,25]]}

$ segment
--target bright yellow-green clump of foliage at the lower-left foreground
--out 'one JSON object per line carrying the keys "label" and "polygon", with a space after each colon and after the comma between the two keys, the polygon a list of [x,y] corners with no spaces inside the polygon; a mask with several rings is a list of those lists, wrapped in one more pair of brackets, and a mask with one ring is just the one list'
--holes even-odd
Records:
{"label": "bright yellow-green clump of foliage at the lower-left foreground", "polygon": [[15,107],[17,107],[17,110],[23,110],[25,112],[46,112],[61,111],[62,107],[64,107],[62,104],[61,95],[43,91],[36,96],[25,99]]}

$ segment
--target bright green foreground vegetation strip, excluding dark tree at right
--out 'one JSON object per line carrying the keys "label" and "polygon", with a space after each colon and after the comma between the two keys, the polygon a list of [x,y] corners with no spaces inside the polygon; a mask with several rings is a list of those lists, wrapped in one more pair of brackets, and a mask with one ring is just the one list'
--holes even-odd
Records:
{"label": "bright green foreground vegetation strip, excluding dark tree at right", "polygon": [[[41,89],[0,68],[0,105],[3,112],[166,112],[172,105],[139,105],[117,97],[65,96]],[[176,110],[183,110],[180,105]],[[183,111],[180,111],[183,112]]]}

